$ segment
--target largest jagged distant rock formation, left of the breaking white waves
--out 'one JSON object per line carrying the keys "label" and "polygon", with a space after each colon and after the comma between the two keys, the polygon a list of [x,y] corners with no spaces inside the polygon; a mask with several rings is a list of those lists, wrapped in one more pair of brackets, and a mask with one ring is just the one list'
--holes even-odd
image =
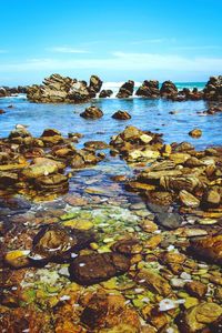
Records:
{"label": "largest jagged distant rock formation, left of the breaking white waves", "polygon": [[102,81],[97,75],[90,78],[88,87],[85,81],[52,74],[41,85],[29,87],[27,98],[36,103],[81,103],[94,98],[101,87]]}

